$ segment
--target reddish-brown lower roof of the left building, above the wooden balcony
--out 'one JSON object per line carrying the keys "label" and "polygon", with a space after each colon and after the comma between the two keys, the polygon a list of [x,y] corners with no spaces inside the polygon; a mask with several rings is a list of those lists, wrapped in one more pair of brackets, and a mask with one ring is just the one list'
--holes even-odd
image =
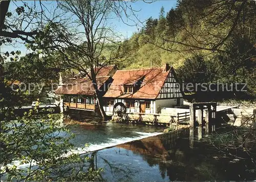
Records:
{"label": "reddish-brown lower roof of the left building, above the wooden balcony", "polygon": [[[110,78],[110,76],[97,77],[98,89]],[[67,81],[63,86],[55,90],[56,94],[94,95],[95,89],[89,78],[77,78]]]}

